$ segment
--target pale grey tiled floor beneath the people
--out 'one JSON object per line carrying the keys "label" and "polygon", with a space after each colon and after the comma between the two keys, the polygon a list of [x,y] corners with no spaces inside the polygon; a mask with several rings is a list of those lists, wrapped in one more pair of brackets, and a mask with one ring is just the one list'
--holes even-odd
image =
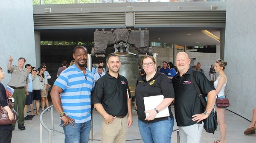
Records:
{"label": "pale grey tiled floor beneath the people", "polygon": [[[172,111],[174,108],[172,106]],[[53,108],[53,123],[54,129],[63,132],[62,127],[59,126],[60,119],[58,113]],[[51,112],[45,112],[43,115],[44,123],[50,128],[51,126]],[[239,115],[234,114],[226,110],[226,123],[227,123],[227,141],[228,143],[256,143],[256,135],[244,135],[244,129],[246,129],[250,122]],[[16,129],[13,131],[12,143],[40,143],[40,121],[39,116],[35,116],[31,121],[25,121],[26,130],[20,131]],[[100,127],[101,116],[97,111],[93,110],[93,141],[91,143],[100,143]],[[177,125],[173,129],[177,129]],[[43,128],[42,130],[42,143],[49,143],[48,132]],[[215,132],[215,135],[209,134],[203,131],[201,137],[201,143],[213,143],[214,140],[220,139],[219,132]],[[52,133],[52,143],[64,143],[64,135],[58,132]],[[143,143],[140,137],[140,132],[137,125],[137,113],[133,111],[133,124],[128,129],[127,143]],[[177,143],[177,132],[172,134],[172,143]]]}

